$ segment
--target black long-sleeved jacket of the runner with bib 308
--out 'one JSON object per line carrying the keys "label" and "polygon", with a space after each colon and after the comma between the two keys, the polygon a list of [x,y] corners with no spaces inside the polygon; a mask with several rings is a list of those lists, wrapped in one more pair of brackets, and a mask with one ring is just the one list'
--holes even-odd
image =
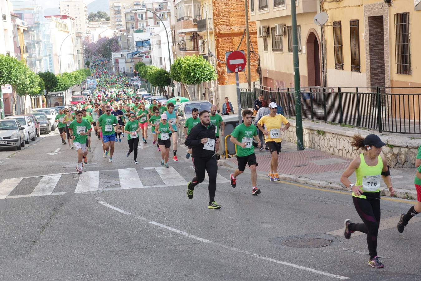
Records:
{"label": "black long-sleeved jacket of the runner with bib 308", "polygon": [[184,145],[192,147],[192,157],[212,158],[215,155],[215,149],[213,151],[203,149],[203,138],[216,139],[215,125],[210,123],[209,128],[207,128],[202,123],[199,123],[190,130]]}

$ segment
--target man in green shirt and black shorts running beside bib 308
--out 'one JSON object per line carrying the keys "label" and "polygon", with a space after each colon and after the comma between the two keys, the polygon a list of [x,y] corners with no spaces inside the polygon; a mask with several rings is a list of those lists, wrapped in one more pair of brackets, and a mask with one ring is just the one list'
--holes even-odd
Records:
{"label": "man in green shirt and black shorts running beside bib 308", "polygon": [[257,147],[260,147],[260,139],[257,135],[257,128],[251,123],[251,110],[243,110],[242,120],[244,123],[234,128],[231,133],[230,141],[237,146],[237,163],[238,169],[230,175],[231,186],[236,186],[238,175],[242,174],[245,169],[245,165],[248,164],[251,171],[251,195],[258,195],[260,189],[256,187],[257,173],[256,167],[258,163],[256,161],[256,155],[254,154],[253,138],[258,143]]}

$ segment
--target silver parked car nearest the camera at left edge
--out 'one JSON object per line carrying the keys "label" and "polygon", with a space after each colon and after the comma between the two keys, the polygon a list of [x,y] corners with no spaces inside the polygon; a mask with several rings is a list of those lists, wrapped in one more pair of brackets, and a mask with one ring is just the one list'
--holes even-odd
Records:
{"label": "silver parked car nearest the camera at left edge", "polygon": [[25,147],[25,128],[16,119],[0,120],[0,147]]}

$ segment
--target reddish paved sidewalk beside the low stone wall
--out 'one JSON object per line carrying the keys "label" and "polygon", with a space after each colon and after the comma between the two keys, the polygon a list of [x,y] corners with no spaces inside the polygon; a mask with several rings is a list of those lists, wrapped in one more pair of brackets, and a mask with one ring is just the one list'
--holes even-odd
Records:
{"label": "reddish paved sidewalk beside the low stone wall", "polygon": [[[258,163],[258,174],[266,175],[270,170],[269,152],[260,152],[255,149]],[[237,158],[228,158],[218,161],[220,165],[232,169],[237,168]],[[305,148],[297,151],[297,145],[291,142],[282,141],[282,153],[278,158],[278,174],[280,179],[300,182],[336,190],[348,190],[341,184],[341,175],[348,167],[350,159],[343,158],[320,150]],[[246,171],[248,170],[248,166]],[[390,169],[392,184],[396,197],[404,199],[416,199],[414,186],[415,168]],[[350,177],[355,182],[355,174]],[[384,189],[382,194],[388,194],[387,187],[382,182]]]}

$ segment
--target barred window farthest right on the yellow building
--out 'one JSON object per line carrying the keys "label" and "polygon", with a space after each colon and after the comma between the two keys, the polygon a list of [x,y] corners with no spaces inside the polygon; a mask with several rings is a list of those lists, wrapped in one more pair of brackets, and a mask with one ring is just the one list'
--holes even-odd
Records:
{"label": "barred window farthest right on the yellow building", "polygon": [[409,13],[395,14],[396,73],[411,74]]}

